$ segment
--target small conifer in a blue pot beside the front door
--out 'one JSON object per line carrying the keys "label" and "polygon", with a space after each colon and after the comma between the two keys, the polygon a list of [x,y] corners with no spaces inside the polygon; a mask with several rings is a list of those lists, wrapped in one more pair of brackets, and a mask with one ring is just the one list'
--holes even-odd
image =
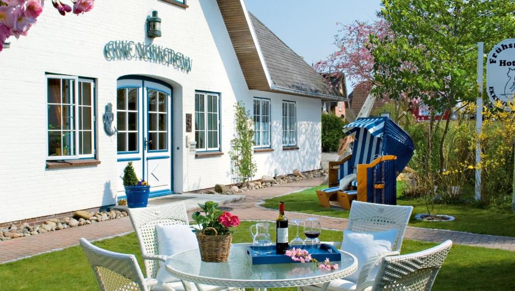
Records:
{"label": "small conifer in a blue pot beside the front door", "polygon": [[145,180],[138,180],[132,162],[127,164],[124,169],[124,187],[125,195],[127,195],[127,207],[139,208],[147,207],[148,194],[150,193],[150,185]]}

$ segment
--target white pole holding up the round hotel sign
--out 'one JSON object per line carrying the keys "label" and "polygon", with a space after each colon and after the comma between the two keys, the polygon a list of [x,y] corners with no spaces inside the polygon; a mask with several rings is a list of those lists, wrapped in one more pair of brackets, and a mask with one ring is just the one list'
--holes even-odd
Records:
{"label": "white pole holding up the round hotel sign", "polygon": [[[481,126],[483,125],[483,43],[477,43],[477,85],[479,95],[476,100],[476,135],[479,137],[481,134]],[[475,199],[481,199],[481,169],[478,165],[481,163],[481,145],[479,138],[476,141],[476,183],[475,183]],[[513,185],[515,189],[515,184]],[[515,197],[515,196],[514,196]],[[515,199],[515,198],[513,198]]]}

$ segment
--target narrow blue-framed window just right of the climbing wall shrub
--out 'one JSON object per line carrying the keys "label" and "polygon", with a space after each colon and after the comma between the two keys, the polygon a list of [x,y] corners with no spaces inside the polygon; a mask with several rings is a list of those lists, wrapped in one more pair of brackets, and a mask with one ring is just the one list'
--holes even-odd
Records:
{"label": "narrow blue-framed window just right of the climbing wall shrub", "polygon": [[254,147],[270,147],[270,99],[254,97]]}

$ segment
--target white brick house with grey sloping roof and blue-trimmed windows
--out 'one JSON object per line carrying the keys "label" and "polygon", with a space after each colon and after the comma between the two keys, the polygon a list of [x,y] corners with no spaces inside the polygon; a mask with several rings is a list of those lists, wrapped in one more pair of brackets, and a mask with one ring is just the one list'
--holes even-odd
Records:
{"label": "white brick house with grey sloping roof and blue-trimmed windows", "polygon": [[[152,11],[161,37],[148,36]],[[243,0],[47,8],[9,41],[0,224],[113,205],[129,161],[152,196],[231,184],[237,101],[254,116],[253,178],[319,169],[321,102],[342,100]]]}

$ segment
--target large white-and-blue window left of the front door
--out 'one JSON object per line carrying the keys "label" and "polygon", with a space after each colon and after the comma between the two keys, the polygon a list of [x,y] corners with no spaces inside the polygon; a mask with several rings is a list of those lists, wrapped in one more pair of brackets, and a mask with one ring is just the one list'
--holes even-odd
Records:
{"label": "large white-and-blue window left of the front door", "polygon": [[95,81],[46,75],[47,160],[94,158]]}

